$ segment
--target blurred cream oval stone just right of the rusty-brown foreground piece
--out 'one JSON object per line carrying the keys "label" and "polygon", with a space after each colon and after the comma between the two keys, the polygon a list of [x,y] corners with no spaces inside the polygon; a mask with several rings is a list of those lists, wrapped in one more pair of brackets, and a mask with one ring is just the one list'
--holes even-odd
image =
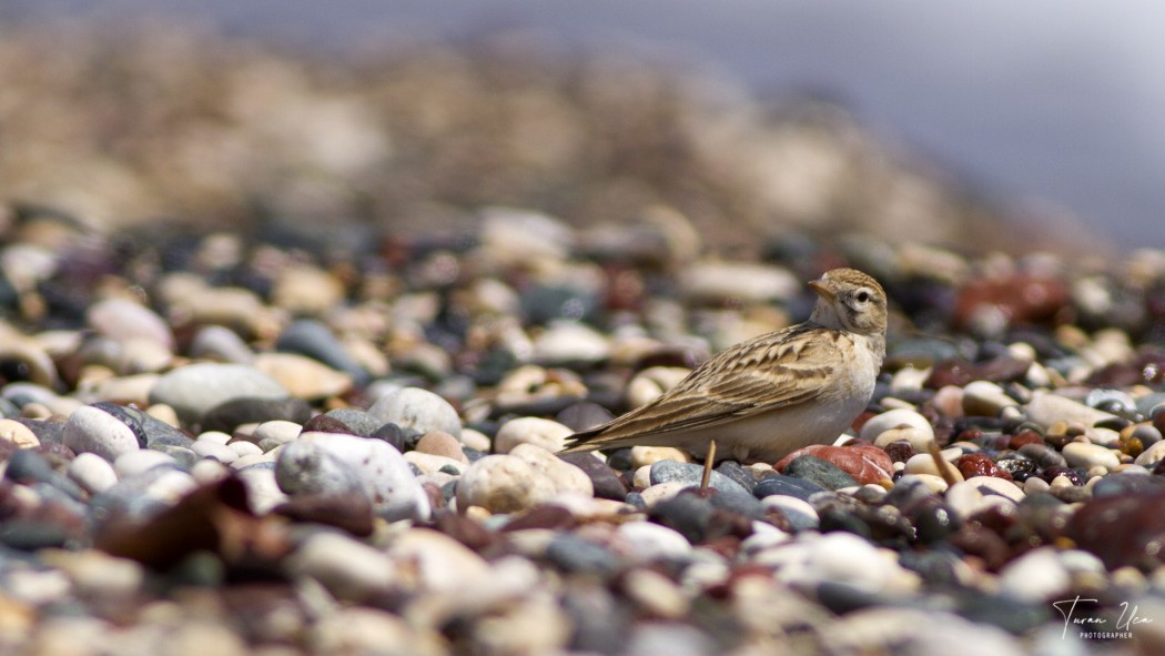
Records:
{"label": "blurred cream oval stone just right of the rusty-brown foreground piece", "polygon": [[396,562],[387,553],[347,535],[312,535],[287,558],[289,574],[319,581],[340,599],[362,601],[388,593],[398,583]]}

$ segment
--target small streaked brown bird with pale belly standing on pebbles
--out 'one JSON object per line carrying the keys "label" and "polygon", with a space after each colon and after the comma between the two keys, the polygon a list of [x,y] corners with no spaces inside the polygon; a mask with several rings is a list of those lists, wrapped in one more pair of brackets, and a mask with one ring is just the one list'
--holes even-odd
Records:
{"label": "small streaked brown bird with pale belly standing on pebbles", "polygon": [[809,287],[818,298],[806,322],[720,352],[654,401],[573,433],[560,453],[675,446],[707,463],[772,464],[834,443],[874,395],[888,298],[876,280],[849,268]]}

